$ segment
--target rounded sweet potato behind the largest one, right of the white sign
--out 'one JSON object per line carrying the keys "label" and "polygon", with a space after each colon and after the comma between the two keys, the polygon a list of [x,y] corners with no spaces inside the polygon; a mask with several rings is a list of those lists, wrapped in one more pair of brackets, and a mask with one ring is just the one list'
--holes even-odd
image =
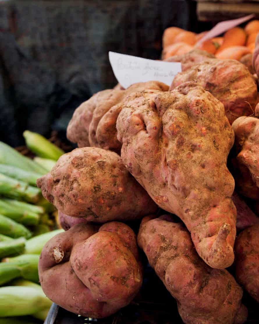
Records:
{"label": "rounded sweet potato behind the largest one, right of the white sign", "polygon": [[170,89],[186,81],[197,81],[219,99],[231,124],[238,117],[254,112],[257,97],[255,81],[244,64],[236,60],[208,59],[196,64],[178,73]]}

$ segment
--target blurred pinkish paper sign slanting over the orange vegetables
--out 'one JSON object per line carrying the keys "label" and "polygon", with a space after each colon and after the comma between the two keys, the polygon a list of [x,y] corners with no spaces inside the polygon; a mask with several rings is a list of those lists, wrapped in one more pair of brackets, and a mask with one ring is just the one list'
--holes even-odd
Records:
{"label": "blurred pinkish paper sign slanting over the orange vegetables", "polygon": [[242,18],[238,18],[238,19],[221,21],[216,26],[214,26],[212,29],[210,29],[210,31],[197,42],[197,45],[200,45],[204,41],[207,41],[213,37],[216,37],[216,36],[224,33],[226,30],[234,28],[253,17],[254,17],[254,14],[248,15],[248,16],[245,16]]}

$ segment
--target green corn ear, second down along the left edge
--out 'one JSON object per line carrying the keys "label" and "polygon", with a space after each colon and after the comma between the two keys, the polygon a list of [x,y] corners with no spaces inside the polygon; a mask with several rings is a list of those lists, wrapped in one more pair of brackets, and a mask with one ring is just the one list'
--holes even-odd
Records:
{"label": "green corn ear, second down along the left edge", "polygon": [[32,186],[36,185],[36,181],[42,175],[32,171],[26,171],[11,165],[0,164],[0,172],[7,177],[24,181]]}

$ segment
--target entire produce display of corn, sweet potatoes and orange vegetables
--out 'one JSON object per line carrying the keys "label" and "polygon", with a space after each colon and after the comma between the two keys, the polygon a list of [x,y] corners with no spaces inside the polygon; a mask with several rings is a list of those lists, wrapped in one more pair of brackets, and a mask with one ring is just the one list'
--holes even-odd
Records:
{"label": "entire produce display of corn, sweet potatoes and orange vegetables", "polygon": [[68,124],[68,153],[30,131],[33,158],[0,142],[0,324],[42,323],[52,302],[98,322],[141,298],[148,263],[183,323],[249,321],[258,33],[259,20],[204,42],[167,28],[162,60],[182,66],[170,87],[94,94]]}

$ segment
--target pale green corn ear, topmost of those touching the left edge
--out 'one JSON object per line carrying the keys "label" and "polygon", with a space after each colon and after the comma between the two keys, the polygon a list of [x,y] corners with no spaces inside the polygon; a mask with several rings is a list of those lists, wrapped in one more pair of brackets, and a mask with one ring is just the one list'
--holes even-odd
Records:
{"label": "pale green corn ear, topmost of those touching the left edge", "polygon": [[29,159],[26,156],[23,156],[11,146],[0,141],[0,163],[12,165],[17,168],[21,168],[27,171],[33,171],[44,175],[47,173],[47,170],[41,165]]}

